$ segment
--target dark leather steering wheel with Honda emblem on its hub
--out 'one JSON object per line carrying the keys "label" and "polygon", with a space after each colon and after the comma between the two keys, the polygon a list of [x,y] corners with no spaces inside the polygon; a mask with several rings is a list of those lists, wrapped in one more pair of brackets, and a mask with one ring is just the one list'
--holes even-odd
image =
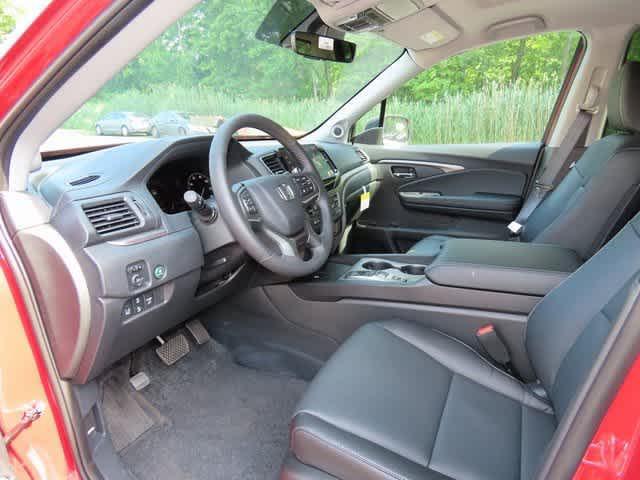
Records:
{"label": "dark leather steering wheel with Honda emblem on its hub", "polygon": [[[229,143],[241,128],[255,128],[271,135],[297,161],[301,171],[229,185]],[[329,197],[313,163],[283,127],[260,115],[236,115],[228,119],[211,142],[209,174],[221,217],[238,244],[256,262],[290,277],[310,275],[324,265],[333,242]],[[320,208],[319,234],[306,212],[306,207],[314,202]]]}

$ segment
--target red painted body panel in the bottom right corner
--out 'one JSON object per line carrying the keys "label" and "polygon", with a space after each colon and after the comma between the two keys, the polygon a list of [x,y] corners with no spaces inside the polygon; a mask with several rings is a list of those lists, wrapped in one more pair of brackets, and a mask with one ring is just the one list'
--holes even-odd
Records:
{"label": "red painted body panel in the bottom right corner", "polygon": [[573,480],[640,479],[640,356],[636,358]]}

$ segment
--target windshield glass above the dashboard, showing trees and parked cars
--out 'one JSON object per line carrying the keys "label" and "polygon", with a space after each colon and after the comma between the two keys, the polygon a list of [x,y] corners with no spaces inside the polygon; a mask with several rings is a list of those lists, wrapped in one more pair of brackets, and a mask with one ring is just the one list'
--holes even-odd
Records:
{"label": "windshield glass above the dashboard, showing trees and parked cars", "polygon": [[215,133],[238,113],[258,113],[304,135],[402,53],[373,34],[346,35],[357,44],[349,64],[308,59],[277,45],[312,12],[306,0],[275,6],[273,0],[202,1],[86,102],[43,150]]}

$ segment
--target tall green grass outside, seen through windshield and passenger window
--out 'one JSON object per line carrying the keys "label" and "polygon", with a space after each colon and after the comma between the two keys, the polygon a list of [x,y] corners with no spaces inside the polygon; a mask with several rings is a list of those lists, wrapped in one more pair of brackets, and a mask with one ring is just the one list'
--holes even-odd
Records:
{"label": "tall green grass outside, seen through windshield and passenger window", "polygon": [[[469,94],[446,95],[433,102],[392,97],[387,113],[411,122],[411,143],[454,144],[538,140],[542,137],[558,88],[533,84],[489,85]],[[337,99],[252,99],[205,88],[168,85],[141,92],[101,95],[87,102],[64,125],[92,131],[95,121],[111,111],[131,110],[155,115],[164,110],[187,111],[207,118],[240,112],[260,113],[287,127],[310,130],[340,105]]]}

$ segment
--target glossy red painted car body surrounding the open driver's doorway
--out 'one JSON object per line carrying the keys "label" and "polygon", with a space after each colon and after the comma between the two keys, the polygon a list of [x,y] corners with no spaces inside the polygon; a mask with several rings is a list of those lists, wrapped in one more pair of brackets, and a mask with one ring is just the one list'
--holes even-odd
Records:
{"label": "glossy red painted car body surrounding the open driver's doorway", "polygon": [[[79,35],[113,0],[53,0],[0,59],[0,124]],[[0,254],[0,434],[20,422],[33,402],[44,414],[7,450],[17,478],[81,478],[81,469],[32,328],[23,291],[7,256]],[[61,301],[63,301],[61,299]],[[640,357],[608,407],[574,480],[640,479]]]}

